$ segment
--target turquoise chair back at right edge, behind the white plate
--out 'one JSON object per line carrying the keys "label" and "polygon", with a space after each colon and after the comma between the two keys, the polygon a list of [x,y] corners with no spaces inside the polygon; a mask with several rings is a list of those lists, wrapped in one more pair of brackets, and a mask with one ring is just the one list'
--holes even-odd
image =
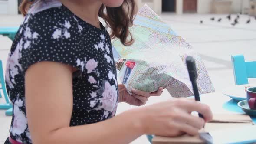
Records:
{"label": "turquoise chair back at right edge, behind the white plate", "polygon": [[256,78],[256,61],[245,62],[243,55],[231,56],[236,85],[248,84],[248,78]]}

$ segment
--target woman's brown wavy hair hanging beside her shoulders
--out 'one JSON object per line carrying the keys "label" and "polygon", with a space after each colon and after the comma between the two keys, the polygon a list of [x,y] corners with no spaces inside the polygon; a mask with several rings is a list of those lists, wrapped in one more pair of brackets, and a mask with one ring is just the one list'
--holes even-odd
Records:
{"label": "woman's brown wavy hair hanging beside her shoulders", "polygon": [[[23,16],[28,12],[34,0],[23,0],[20,4],[20,12]],[[120,7],[105,7],[102,4],[98,11],[98,16],[102,17],[107,25],[112,29],[111,39],[117,37],[125,46],[130,46],[134,39],[131,36],[129,27],[133,24],[135,13],[137,11],[135,0],[124,0]]]}

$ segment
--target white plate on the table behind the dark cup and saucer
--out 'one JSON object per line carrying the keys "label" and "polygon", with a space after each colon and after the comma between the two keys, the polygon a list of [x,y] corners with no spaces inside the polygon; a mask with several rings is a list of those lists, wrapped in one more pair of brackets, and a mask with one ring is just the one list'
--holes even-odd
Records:
{"label": "white plate on the table behind the dark cup and saucer", "polygon": [[256,87],[256,84],[248,84],[248,85],[234,85],[228,88],[225,88],[223,91],[224,95],[229,96],[235,101],[243,101],[246,100],[246,91],[245,87]]}

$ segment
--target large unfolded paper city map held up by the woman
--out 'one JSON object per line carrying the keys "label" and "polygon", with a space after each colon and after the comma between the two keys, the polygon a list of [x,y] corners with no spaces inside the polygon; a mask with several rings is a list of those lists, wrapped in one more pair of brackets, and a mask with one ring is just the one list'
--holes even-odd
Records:
{"label": "large unfolded paper city map held up by the woman", "polygon": [[122,45],[119,39],[113,40],[113,47],[121,58],[137,64],[125,85],[128,91],[137,88],[154,92],[164,87],[172,97],[192,96],[193,89],[185,59],[193,56],[200,94],[214,92],[207,69],[198,53],[147,5],[138,11],[130,31],[135,39],[131,46]]}

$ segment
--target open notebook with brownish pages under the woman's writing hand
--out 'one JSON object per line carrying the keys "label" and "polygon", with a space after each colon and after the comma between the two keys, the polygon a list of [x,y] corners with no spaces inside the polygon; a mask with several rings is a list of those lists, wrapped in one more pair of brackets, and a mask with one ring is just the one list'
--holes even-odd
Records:
{"label": "open notebook with brownish pages under the woman's writing hand", "polygon": [[[225,139],[225,137],[228,137],[228,130],[230,128],[231,131],[234,133],[237,133],[238,135],[245,134],[245,132],[241,133],[240,128],[243,130],[243,128],[251,128],[252,131],[256,131],[255,126],[249,115],[243,115],[243,114],[214,114],[213,120],[210,123],[207,123],[205,125],[205,128],[200,132],[200,134],[204,134],[204,136],[207,133],[212,133],[213,137],[212,139],[215,140],[217,138],[218,140]],[[238,128],[238,130],[236,130]],[[217,132],[216,132],[217,131]],[[217,135],[220,134],[220,135]],[[230,133],[231,134],[231,133]],[[219,137],[218,137],[219,136]],[[250,136],[250,135],[249,135]],[[236,136],[238,137],[238,136]],[[239,136],[240,137],[240,136]],[[256,137],[256,132],[254,132],[254,137]],[[209,137],[208,137],[209,138]],[[247,139],[247,137],[242,137],[244,139]],[[232,138],[231,138],[232,140]],[[233,139],[234,141],[238,141],[238,139]],[[247,139],[248,140],[248,139]],[[248,142],[248,141],[244,142]],[[254,141],[254,140],[253,140]],[[203,139],[202,136],[194,136],[191,137],[189,135],[183,135],[180,137],[161,137],[161,136],[155,136],[152,139],[152,144],[206,144],[205,139]],[[210,141],[209,141],[210,144]],[[215,143],[214,144],[221,144],[221,143]],[[229,144],[229,143],[227,143]],[[232,143],[230,144],[244,144],[244,143]]]}

